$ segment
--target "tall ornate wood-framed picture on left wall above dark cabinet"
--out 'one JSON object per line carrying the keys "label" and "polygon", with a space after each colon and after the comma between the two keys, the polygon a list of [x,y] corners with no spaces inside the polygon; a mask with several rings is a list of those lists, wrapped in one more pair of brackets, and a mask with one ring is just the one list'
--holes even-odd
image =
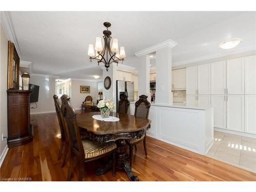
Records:
{"label": "tall ornate wood-framed picture on left wall above dark cabinet", "polygon": [[8,89],[19,89],[19,56],[13,42],[8,42]]}

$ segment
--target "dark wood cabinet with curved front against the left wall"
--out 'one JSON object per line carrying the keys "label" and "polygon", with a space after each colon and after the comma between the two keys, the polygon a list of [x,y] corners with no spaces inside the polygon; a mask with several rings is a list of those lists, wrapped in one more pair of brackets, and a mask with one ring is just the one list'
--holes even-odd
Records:
{"label": "dark wood cabinet with curved front against the left wall", "polygon": [[8,94],[8,147],[15,147],[33,140],[30,124],[29,96],[32,91],[7,90]]}

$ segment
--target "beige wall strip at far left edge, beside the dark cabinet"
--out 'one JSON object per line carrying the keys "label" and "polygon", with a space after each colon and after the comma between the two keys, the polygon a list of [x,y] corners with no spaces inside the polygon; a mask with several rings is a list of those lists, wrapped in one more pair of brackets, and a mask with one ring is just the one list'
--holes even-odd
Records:
{"label": "beige wall strip at far left edge, beside the dark cabinet", "polygon": [[4,159],[7,139],[2,141],[2,134],[7,136],[7,71],[8,71],[8,39],[0,25],[0,166]]}

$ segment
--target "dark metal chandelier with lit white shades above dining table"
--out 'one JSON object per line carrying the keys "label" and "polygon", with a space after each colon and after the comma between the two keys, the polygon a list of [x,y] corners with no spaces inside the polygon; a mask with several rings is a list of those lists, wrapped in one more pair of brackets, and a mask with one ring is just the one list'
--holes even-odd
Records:
{"label": "dark metal chandelier with lit white shades above dining table", "polygon": [[110,46],[112,37],[111,31],[109,31],[108,28],[111,26],[111,24],[109,22],[104,22],[103,25],[106,27],[106,30],[103,31],[104,48],[102,48],[101,38],[96,37],[94,48],[96,50],[96,55],[93,49],[93,44],[89,45],[88,55],[90,57],[90,62],[92,62],[92,59],[96,59],[98,65],[100,62],[104,63],[106,71],[109,71],[109,67],[112,62],[118,64],[118,61],[124,60],[125,52],[124,47],[120,47],[119,52],[117,38],[113,38],[112,46]]}

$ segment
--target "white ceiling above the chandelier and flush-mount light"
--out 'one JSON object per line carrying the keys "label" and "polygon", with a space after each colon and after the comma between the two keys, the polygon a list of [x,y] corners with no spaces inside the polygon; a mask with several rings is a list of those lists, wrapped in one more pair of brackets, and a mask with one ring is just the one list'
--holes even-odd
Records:
{"label": "white ceiling above the chandelier and flush-mount light", "polygon": [[[88,45],[110,22],[112,37],[125,47],[124,65],[136,67],[134,53],[167,39],[177,42],[174,65],[208,55],[256,46],[256,12],[10,12],[23,60],[33,73],[93,78],[102,70],[90,63]],[[234,49],[219,42],[241,38]],[[154,62],[154,61],[153,61]]]}

